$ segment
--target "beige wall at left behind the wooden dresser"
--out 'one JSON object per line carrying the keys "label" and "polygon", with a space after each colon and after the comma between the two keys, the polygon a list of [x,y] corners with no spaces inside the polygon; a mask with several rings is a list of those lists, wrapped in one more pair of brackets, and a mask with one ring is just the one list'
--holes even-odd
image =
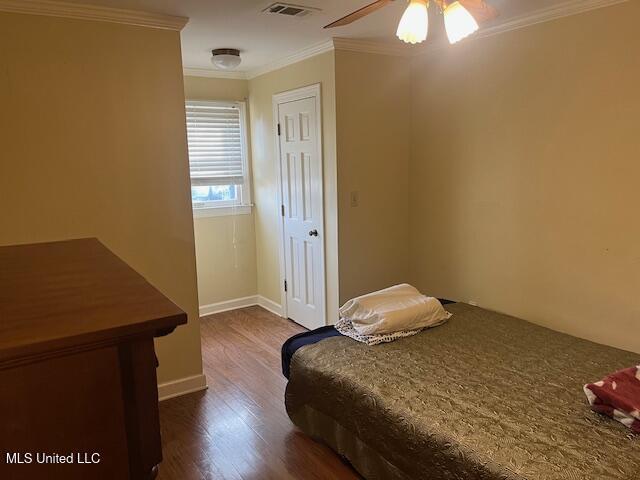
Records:
{"label": "beige wall at left behind the wooden dresser", "polygon": [[0,244],[98,237],[189,313],[202,372],[178,32],[0,13]]}

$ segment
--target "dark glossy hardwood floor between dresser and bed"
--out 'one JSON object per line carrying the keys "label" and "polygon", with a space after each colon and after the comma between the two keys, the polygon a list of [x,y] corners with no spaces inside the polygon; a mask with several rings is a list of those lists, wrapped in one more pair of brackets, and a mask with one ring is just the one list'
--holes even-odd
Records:
{"label": "dark glossy hardwood floor between dresser and bed", "polygon": [[361,478],[285,412],[280,347],[303,330],[260,307],[202,318],[209,389],[160,404],[159,480]]}

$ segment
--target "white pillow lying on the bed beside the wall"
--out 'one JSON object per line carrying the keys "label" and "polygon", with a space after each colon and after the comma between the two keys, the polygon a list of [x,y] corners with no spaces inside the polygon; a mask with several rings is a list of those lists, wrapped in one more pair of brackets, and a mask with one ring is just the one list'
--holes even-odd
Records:
{"label": "white pillow lying on the bed beside the wall", "polygon": [[451,314],[437,298],[403,283],[349,300],[340,317],[350,320],[361,335],[379,335],[440,325]]}

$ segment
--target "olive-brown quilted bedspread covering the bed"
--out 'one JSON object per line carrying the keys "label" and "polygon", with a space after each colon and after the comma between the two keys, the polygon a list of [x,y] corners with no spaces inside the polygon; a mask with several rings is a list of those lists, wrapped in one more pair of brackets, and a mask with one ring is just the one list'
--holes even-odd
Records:
{"label": "olive-brown quilted bedspread covering the bed", "polygon": [[369,347],[297,349],[289,417],[367,479],[640,479],[640,435],[582,386],[640,355],[462,303],[445,325]]}

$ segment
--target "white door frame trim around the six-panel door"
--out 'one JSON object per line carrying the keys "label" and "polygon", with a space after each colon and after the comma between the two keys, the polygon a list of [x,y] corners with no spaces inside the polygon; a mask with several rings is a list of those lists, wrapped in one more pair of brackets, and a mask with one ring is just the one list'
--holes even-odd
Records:
{"label": "white door frame trim around the six-panel door", "polygon": [[275,152],[276,162],[278,166],[278,255],[280,257],[280,304],[282,305],[282,316],[284,318],[289,317],[287,308],[287,292],[284,291],[284,281],[286,280],[286,263],[285,263],[285,235],[284,235],[284,216],[282,215],[282,205],[284,198],[284,179],[282,171],[282,152],[280,151],[280,136],[278,135],[278,123],[280,121],[279,106],[284,103],[294,102],[296,100],[304,100],[306,98],[313,98],[316,104],[316,135],[318,141],[318,155],[320,160],[320,265],[321,265],[321,286],[322,286],[322,301],[319,302],[320,313],[324,324],[327,324],[327,265],[325,263],[325,249],[326,249],[326,237],[325,237],[325,216],[324,216],[324,152],[322,144],[322,92],[320,83],[314,83],[306,87],[296,88],[294,90],[287,90],[285,92],[276,93],[273,95],[273,136],[275,138]]}

